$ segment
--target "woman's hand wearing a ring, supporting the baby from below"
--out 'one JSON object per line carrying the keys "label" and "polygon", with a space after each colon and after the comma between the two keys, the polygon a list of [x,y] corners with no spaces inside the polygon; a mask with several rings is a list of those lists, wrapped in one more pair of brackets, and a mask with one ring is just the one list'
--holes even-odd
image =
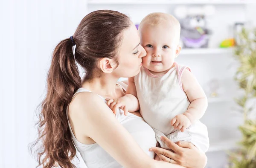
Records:
{"label": "woman's hand wearing a ring, supporting the baby from below", "polygon": [[161,139],[173,152],[158,147],[150,148],[149,151],[154,151],[160,160],[186,168],[204,168],[206,165],[207,156],[199,151],[192,143],[185,141],[174,143],[164,136]]}

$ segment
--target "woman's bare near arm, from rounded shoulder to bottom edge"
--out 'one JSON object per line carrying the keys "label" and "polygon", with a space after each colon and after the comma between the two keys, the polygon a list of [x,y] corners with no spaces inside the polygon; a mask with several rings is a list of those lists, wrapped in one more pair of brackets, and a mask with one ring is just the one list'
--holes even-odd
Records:
{"label": "woman's bare near arm, from rounded shoulder to bottom edge", "polygon": [[95,93],[79,93],[75,99],[69,115],[76,135],[93,139],[125,168],[180,168],[150,158]]}

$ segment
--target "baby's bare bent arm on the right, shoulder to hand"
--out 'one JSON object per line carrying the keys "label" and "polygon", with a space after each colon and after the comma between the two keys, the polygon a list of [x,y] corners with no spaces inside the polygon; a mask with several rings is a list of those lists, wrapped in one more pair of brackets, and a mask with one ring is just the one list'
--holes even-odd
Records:
{"label": "baby's bare bent arm on the right, shoulder to hand", "polygon": [[181,83],[189,98],[190,105],[185,113],[179,114],[172,119],[171,125],[175,129],[184,132],[189,125],[201,119],[207,109],[208,102],[204,90],[189,70],[184,70],[181,76]]}

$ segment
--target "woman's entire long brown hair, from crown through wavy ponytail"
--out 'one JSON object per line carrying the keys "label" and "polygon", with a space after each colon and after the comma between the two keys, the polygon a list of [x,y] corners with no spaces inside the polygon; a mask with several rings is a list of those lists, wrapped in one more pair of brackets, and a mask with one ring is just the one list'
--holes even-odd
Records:
{"label": "woman's entire long brown hair, from crown through wavy ponytail", "polygon": [[32,151],[37,148],[38,167],[76,167],[71,162],[76,156],[76,148],[67,120],[68,104],[81,87],[76,62],[85,70],[85,79],[92,79],[99,71],[96,67],[99,58],[117,61],[122,31],[130,25],[131,20],[125,14],[110,10],[91,12],[81,20],[73,35],[75,56],[70,38],[55,47],[47,74],[46,97],[40,106],[38,139],[31,147]]}

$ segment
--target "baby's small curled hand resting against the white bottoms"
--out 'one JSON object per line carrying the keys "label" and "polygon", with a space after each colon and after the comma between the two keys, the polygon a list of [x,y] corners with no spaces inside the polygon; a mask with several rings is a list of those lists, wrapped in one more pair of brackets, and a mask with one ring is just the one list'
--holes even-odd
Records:
{"label": "baby's small curled hand resting against the white bottoms", "polygon": [[175,129],[184,132],[191,125],[191,121],[184,114],[178,114],[171,120],[171,125]]}

